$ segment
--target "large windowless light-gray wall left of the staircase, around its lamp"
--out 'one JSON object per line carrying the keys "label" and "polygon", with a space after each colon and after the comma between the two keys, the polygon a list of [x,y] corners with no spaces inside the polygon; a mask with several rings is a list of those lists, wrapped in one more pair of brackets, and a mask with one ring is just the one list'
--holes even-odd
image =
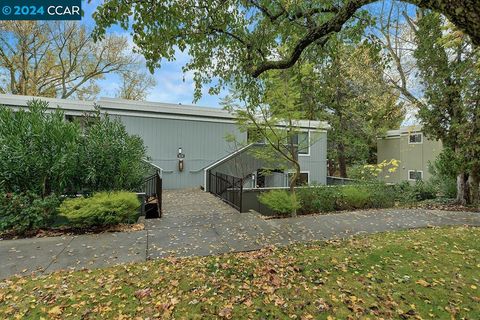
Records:
{"label": "large windowless light-gray wall left of the staircase, around its lamp", "polygon": [[[227,134],[233,134],[239,141],[246,139],[246,134],[241,133],[235,123],[118,117],[129,133],[143,139],[151,162],[164,169],[163,185],[166,189],[202,186],[203,169],[235,151],[235,146],[225,139]],[[178,170],[179,147],[185,154],[182,172]]]}

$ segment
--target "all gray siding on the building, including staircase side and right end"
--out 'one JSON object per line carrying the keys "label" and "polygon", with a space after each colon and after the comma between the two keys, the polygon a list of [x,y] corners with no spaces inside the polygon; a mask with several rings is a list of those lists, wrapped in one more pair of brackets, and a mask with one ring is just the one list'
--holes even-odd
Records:
{"label": "all gray siding on the building, including staircase side and right end", "polygon": [[[233,134],[237,141],[245,141],[246,134],[235,123],[177,120],[154,117],[117,116],[127,131],[139,135],[147,146],[151,162],[163,171],[166,189],[198,188],[204,186],[204,168],[235,152],[239,146],[227,142]],[[310,183],[326,184],[327,133],[311,133],[310,155],[299,156],[301,170],[308,171]],[[177,152],[182,147],[184,169],[178,170]],[[244,152],[238,158],[219,166],[219,172],[244,177],[265,167],[261,161]],[[272,176],[272,185],[286,185],[286,177]]]}

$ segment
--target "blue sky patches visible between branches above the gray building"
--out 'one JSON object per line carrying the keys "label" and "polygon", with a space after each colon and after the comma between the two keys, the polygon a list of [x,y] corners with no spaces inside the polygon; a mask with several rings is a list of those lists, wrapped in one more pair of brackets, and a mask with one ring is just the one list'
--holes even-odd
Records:
{"label": "blue sky patches visible between branches above the gray building", "polygon": [[[85,13],[81,21],[82,24],[85,24],[89,28],[94,27],[95,21],[92,19],[92,14],[101,2],[103,1],[93,0],[90,1],[90,3],[82,1],[82,9]],[[119,26],[113,26],[107,31],[124,35],[131,42],[132,37],[130,33]],[[208,88],[204,88],[202,98],[196,103],[193,103],[194,83],[192,74],[184,74],[182,71],[182,66],[188,62],[188,60],[188,53],[178,51],[175,61],[162,61],[162,67],[155,70],[153,74],[157,85],[150,90],[146,100],[220,108],[221,98],[227,94],[225,91],[219,95],[212,96],[208,94]],[[144,61],[142,61],[142,67],[145,68],[145,72],[148,72]],[[101,87],[101,97],[115,97],[120,86],[120,78],[117,75],[108,74],[105,79],[99,81],[98,84]]]}

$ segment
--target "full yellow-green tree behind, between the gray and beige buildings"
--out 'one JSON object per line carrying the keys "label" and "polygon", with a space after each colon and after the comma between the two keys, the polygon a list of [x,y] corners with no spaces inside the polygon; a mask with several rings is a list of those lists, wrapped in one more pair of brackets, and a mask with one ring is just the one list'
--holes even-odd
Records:
{"label": "full yellow-green tree behind, between the gray and beige buildings", "polygon": [[340,176],[347,177],[347,166],[376,161],[376,138],[398,126],[404,110],[383,78],[379,48],[342,39],[332,39],[326,48],[317,56],[309,82],[316,83],[317,118],[331,125],[330,174],[338,164]]}

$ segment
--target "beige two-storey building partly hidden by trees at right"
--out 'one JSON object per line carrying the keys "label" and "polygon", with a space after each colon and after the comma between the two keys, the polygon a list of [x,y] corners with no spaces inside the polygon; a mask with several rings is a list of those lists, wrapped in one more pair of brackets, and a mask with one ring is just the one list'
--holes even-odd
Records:
{"label": "beige two-storey building partly hidden by trees at right", "polygon": [[[377,140],[377,161],[400,161],[393,173],[383,172],[381,177],[386,182],[428,180],[429,162],[435,161],[442,151],[442,142],[426,139],[419,125],[401,127],[387,131]],[[385,170],[387,171],[387,170]]]}

